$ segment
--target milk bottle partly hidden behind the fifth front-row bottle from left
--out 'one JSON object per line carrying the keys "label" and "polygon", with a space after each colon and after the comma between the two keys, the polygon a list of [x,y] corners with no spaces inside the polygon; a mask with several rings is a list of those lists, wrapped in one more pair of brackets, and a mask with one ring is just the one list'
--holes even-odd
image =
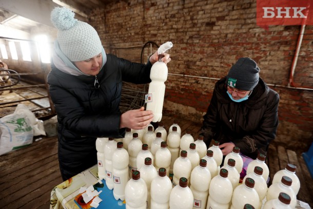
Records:
{"label": "milk bottle partly hidden behind the fifth front-row bottle from left", "polygon": [[263,169],[259,166],[256,166],[253,173],[247,174],[243,178],[243,182],[245,182],[246,178],[251,178],[255,180],[255,189],[260,198],[260,206],[262,205],[262,201],[265,198],[266,193],[267,193],[267,183],[265,179],[263,178],[262,174],[263,174]]}

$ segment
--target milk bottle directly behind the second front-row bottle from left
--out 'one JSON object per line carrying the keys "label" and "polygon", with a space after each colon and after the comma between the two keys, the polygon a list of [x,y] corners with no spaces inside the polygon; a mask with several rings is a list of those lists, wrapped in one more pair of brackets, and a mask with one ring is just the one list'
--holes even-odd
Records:
{"label": "milk bottle directly behind the second front-row bottle from left", "polygon": [[164,167],[166,169],[166,175],[169,177],[169,166],[171,164],[171,152],[167,148],[166,142],[161,142],[161,147],[155,153],[155,169]]}

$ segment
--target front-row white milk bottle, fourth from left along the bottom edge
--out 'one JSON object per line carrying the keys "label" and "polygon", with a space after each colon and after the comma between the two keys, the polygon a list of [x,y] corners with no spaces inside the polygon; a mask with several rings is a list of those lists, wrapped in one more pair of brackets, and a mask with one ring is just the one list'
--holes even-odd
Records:
{"label": "front-row white milk bottle, fourth from left along the bottom edge", "polygon": [[209,186],[207,209],[228,209],[233,189],[227,177],[228,171],[221,168],[219,175],[212,178]]}

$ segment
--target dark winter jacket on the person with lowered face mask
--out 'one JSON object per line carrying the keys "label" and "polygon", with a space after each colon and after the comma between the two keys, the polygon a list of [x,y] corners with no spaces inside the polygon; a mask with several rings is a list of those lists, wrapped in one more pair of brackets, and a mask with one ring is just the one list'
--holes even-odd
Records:
{"label": "dark winter jacket on the person with lowered face mask", "polygon": [[276,137],[279,94],[261,78],[246,101],[233,102],[226,91],[225,77],[216,83],[203,117],[202,135],[207,147],[213,139],[220,144],[234,143],[252,159],[259,152],[266,154],[269,142]]}

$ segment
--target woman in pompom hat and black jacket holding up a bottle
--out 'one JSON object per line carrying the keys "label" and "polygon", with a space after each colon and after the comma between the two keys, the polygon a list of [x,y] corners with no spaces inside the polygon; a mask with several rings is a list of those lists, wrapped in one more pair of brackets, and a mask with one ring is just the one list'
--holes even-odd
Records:
{"label": "woman in pompom hat and black jacket holding up a bottle", "polygon": [[[58,29],[47,83],[58,121],[58,160],[63,180],[97,163],[98,137],[123,138],[126,127],[143,129],[153,119],[144,107],[121,113],[122,81],[149,83],[146,64],[106,54],[95,29],[74,18],[65,7],[54,8],[51,22]],[[164,53],[165,63],[170,61]]]}

